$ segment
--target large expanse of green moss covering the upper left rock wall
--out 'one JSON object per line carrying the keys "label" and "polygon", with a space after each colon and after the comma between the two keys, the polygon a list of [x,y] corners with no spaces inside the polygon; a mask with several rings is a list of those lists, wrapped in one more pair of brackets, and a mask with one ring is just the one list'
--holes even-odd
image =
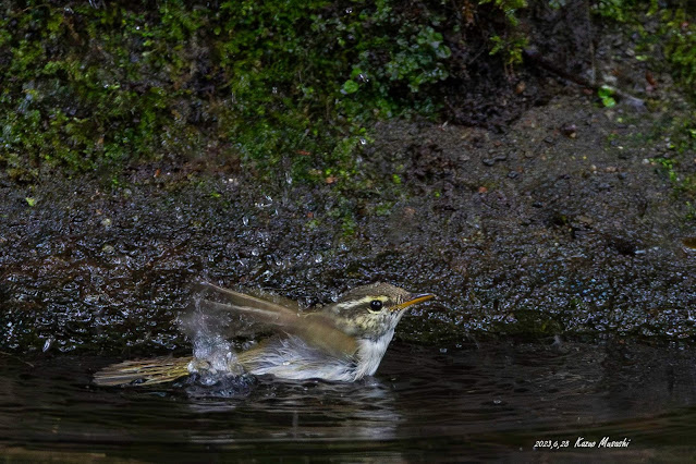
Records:
{"label": "large expanse of green moss covering the upper left rock wall", "polygon": [[350,176],[367,122],[438,110],[424,90],[449,75],[445,8],[422,7],[4,2],[0,163],[30,176],[223,150],[261,175]]}

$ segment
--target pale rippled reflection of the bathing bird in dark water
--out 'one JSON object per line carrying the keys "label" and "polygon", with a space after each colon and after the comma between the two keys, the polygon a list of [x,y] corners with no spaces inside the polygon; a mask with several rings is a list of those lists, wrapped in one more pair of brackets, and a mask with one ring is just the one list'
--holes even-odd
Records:
{"label": "pale rippled reflection of the bathing bird in dark water", "polygon": [[329,383],[243,376],[209,386],[194,377],[185,391],[193,413],[219,420],[234,412],[235,417],[227,428],[192,435],[193,442],[209,442],[211,435],[218,443],[259,437],[388,440],[402,420],[394,392],[376,378]]}

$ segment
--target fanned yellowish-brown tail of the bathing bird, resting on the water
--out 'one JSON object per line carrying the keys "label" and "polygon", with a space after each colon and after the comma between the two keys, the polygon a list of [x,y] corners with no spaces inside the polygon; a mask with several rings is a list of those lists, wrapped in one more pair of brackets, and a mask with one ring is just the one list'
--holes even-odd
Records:
{"label": "fanned yellowish-brown tail of the bathing bird, resting on the water", "polygon": [[151,386],[187,376],[193,357],[154,357],[112,364],[95,374],[95,383],[113,387],[122,384]]}

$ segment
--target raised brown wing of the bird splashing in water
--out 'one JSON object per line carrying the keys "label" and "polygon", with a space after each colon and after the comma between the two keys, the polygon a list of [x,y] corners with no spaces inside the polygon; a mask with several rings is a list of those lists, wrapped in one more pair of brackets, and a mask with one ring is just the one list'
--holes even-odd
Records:
{"label": "raised brown wing of the bird splashing in water", "polygon": [[337,357],[351,357],[357,351],[357,341],[338,329],[333,320],[323,314],[313,313],[312,317],[306,317],[264,298],[207,282],[200,285],[221,300],[200,300],[198,304],[205,309],[239,315],[249,327],[268,327],[276,332],[301,337],[307,344]]}

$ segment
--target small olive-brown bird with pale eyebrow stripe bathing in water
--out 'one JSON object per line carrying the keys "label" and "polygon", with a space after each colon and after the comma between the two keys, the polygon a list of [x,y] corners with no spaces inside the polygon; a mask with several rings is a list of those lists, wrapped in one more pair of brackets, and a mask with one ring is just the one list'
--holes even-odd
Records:
{"label": "small olive-brown bird with pale eyebrow stripe bathing in water", "polygon": [[[204,284],[223,296],[225,303],[205,300],[217,310],[232,312],[271,327],[276,334],[244,351],[225,366],[240,366],[253,375],[270,374],[281,379],[355,381],[371,376],[394,335],[406,308],[435,295],[412,294],[388,283],[358,286],[337,303],[313,313],[300,313],[290,305]],[[154,384],[175,380],[209,367],[206,359],[158,357],[127,361],[95,375],[100,386]]]}

